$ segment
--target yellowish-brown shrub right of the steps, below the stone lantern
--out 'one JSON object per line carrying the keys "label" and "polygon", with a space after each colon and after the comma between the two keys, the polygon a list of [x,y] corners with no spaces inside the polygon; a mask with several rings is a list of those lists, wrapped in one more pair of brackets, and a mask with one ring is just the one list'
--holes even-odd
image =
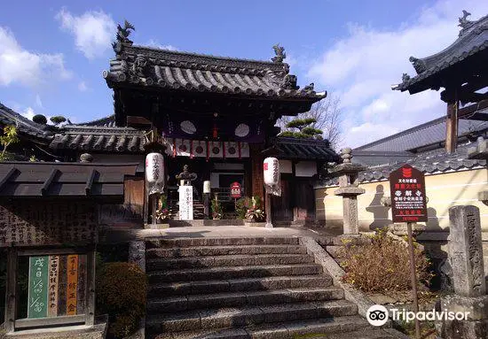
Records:
{"label": "yellowish-brown shrub right of the steps, below the stone lantern", "polygon": [[[429,285],[433,277],[429,259],[417,248],[414,254],[417,281]],[[340,257],[346,271],[342,280],[358,289],[379,293],[412,289],[407,244],[390,238],[385,230],[377,230],[368,244],[344,243]]]}

